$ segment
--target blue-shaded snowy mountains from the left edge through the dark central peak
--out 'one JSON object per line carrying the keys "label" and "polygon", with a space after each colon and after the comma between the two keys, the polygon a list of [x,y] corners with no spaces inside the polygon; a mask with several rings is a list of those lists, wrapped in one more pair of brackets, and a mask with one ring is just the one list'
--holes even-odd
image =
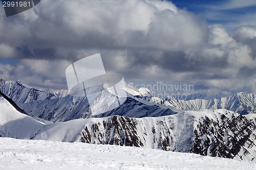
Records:
{"label": "blue-shaded snowy mountains from the left edge through the dark central peak", "polygon": [[[11,100],[29,115],[39,117],[52,122],[65,122],[72,119],[88,117],[106,117],[110,115],[122,115],[129,117],[162,116],[176,113],[171,108],[162,107],[137,98],[128,98],[121,107],[116,109],[113,104],[116,98],[110,98],[110,92],[99,85],[92,90],[98,91],[93,103],[89,105],[88,99],[82,95],[67,95],[66,91],[56,92],[50,89],[46,91],[36,90],[19,81],[5,81],[1,79],[0,89]],[[89,89],[90,90],[90,89]],[[82,92],[83,93],[83,92]],[[146,96],[146,92],[140,94]],[[64,96],[62,98],[57,96]],[[122,99],[119,99],[122,100]],[[100,102],[99,102],[100,101]],[[90,107],[89,107],[90,106]],[[91,109],[98,110],[94,115]],[[109,111],[110,110],[110,111]]]}

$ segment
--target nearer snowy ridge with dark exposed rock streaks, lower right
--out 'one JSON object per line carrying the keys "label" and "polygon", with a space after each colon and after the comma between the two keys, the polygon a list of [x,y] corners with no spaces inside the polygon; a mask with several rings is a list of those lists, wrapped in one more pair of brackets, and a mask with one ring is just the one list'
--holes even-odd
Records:
{"label": "nearer snowy ridge with dark exposed rock streaks, lower right", "polygon": [[255,128],[255,123],[245,116],[221,109],[185,111],[161,117],[91,118],[82,134],[88,143],[255,161]]}

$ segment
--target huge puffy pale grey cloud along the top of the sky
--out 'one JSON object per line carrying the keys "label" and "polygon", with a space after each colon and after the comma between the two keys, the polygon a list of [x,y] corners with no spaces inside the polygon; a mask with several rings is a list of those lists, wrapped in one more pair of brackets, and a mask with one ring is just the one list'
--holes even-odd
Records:
{"label": "huge puffy pale grey cloud along the top of the sky", "polygon": [[[31,18],[2,19],[1,40],[25,49],[18,51],[22,58],[44,55],[49,48],[184,49],[204,43],[204,20],[172,3],[148,2],[46,0],[33,8]],[[50,54],[56,55],[54,50]]]}

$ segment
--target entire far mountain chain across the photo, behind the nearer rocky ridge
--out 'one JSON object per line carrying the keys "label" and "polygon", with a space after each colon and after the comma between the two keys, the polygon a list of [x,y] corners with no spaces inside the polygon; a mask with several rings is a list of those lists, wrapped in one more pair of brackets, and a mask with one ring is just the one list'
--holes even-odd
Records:
{"label": "entire far mountain chain across the photo, behind the nearer rocky ridge", "polygon": [[[86,97],[67,95],[64,91],[57,97],[48,92],[31,88],[19,81],[0,80],[0,89],[20,108],[28,114],[53,122],[64,122],[77,118],[106,117],[121,115],[127,117],[146,117],[172,115],[182,110],[204,110],[204,109],[227,109],[240,114],[256,113],[256,97],[254,94],[237,93],[227,98],[219,99],[195,99],[176,100],[173,98],[160,99],[156,93],[140,88],[138,91],[127,89],[129,98],[121,106],[114,110],[110,109],[114,101],[105,98],[108,91],[103,86],[99,86],[99,96],[95,96],[95,101],[104,99],[105,102],[94,103],[95,108],[102,108],[98,115],[90,115],[90,107]],[[57,91],[55,91],[57,93]],[[203,95],[199,95],[203,96]],[[195,96],[194,96],[195,97]],[[191,98],[194,98],[191,97]],[[163,107],[167,106],[167,107]],[[111,110],[111,111],[104,111]]]}

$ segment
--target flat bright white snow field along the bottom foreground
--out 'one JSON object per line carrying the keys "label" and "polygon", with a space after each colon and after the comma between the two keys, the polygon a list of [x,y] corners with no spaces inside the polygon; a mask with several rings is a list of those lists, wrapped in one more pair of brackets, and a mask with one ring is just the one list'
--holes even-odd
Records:
{"label": "flat bright white snow field along the bottom foreground", "polygon": [[256,169],[256,162],[117,145],[0,137],[0,169]]}

